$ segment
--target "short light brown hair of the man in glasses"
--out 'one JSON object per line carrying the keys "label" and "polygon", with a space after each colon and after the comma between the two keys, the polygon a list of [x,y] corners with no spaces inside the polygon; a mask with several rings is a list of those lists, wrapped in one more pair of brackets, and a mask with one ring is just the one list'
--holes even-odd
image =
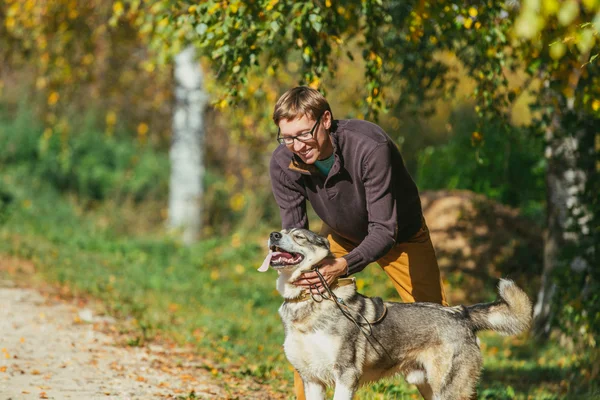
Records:
{"label": "short light brown hair of the man in glasses", "polygon": [[288,90],[277,100],[273,110],[273,122],[279,125],[279,121],[283,119],[294,120],[303,116],[316,120],[325,111],[331,113],[331,108],[318,90],[298,86]]}

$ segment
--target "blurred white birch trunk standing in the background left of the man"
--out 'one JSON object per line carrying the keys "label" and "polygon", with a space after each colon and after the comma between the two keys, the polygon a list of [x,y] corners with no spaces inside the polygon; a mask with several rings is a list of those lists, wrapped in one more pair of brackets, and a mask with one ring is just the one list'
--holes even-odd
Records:
{"label": "blurred white birch trunk standing in the background left of the man", "polygon": [[191,46],[175,57],[175,85],[168,226],[180,231],[189,245],[202,229],[204,111],[208,102],[202,68]]}

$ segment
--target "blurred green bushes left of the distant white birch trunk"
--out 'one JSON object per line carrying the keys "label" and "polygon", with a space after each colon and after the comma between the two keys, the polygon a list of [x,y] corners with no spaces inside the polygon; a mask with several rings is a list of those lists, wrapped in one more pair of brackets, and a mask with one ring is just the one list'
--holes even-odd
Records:
{"label": "blurred green bushes left of the distant white birch trunk", "polygon": [[0,165],[22,165],[63,191],[83,199],[129,197],[136,201],[167,192],[168,159],[129,140],[106,136],[85,124],[77,134],[43,130],[25,107],[0,120]]}

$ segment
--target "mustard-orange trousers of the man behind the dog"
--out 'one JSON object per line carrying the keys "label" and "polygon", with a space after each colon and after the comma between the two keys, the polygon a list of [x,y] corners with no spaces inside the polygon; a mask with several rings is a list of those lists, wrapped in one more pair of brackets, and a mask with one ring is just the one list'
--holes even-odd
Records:
{"label": "mustard-orange trousers of the man behind the dog", "polygon": [[[329,239],[331,252],[336,257],[348,254],[357,246],[333,232],[325,224],[320,234]],[[395,245],[385,256],[377,260],[377,264],[392,280],[396,291],[405,303],[427,301],[448,305],[425,220],[421,229],[413,237]],[[294,371],[294,392],[296,399],[305,400],[304,386],[297,371]]]}

